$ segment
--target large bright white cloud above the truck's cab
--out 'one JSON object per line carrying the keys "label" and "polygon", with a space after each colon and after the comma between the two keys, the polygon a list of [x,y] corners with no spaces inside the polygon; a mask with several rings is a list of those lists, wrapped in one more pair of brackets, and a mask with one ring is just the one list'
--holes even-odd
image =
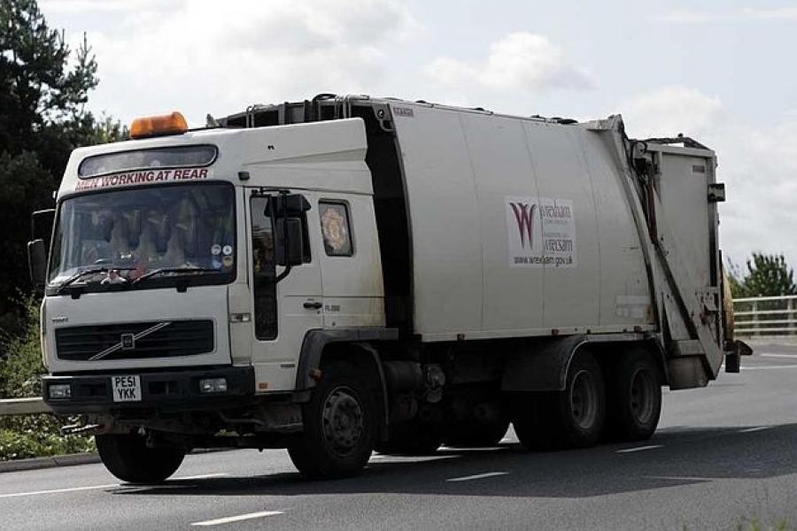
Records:
{"label": "large bright white cloud above the truck's cab", "polygon": [[[94,4],[67,3],[75,9]],[[240,0],[224,9],[214,0],[125,0],[119,9],[123,5],[146,9],[88,36],[101,80],[92,108],[126,120],[179,109],[192,125],[202,125],[206,112],[372,89],[389,63],[385,46],[419,30],[398,0]],[[81,38],[71,35],[71,42]]]}

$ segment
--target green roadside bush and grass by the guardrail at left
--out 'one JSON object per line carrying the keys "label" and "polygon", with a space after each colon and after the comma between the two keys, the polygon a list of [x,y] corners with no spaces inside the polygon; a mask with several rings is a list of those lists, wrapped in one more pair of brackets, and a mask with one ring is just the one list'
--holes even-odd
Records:
{"label": "green roadside bush and grass by the guardrail at left", "polygon": [[[41,391],[38,301],[28,296],[23,305],[22,331],[0,337],[5,356],[0,359],[0,398],[39,396]],[[49,414],[0,417],[0,461],[94,450],[93,437],[60,435],[59,428],[74,421]]]}

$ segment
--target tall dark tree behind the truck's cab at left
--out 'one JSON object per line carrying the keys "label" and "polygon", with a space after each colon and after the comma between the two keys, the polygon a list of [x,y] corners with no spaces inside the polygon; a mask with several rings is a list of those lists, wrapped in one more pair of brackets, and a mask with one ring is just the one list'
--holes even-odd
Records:
{"label": "tall dark tree behind the truck's cab at left", "polygon": [[73,57],[35,0],[0,0],[0,328],[6,331],[15,330],[19,288],[30,285],[30,213],[53,204],[71,150],[125,135],[118,122],[85,109],[98,81],[85,36]]}

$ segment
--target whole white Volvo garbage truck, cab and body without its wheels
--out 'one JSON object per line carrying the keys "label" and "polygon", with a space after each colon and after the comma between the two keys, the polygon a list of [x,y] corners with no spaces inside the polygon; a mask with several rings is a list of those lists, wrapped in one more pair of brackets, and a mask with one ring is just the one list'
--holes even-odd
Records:
{"label": "whole white Volvo garbage truck, cab and body without its wheels", "polygon": [[[375,364],[383,441],[391,440],[391,426],[414,419],[431,425],[438,411],[460,411],[464,406],[453,405],[457,389],[468,392],[471,383],[481,386],[479,393],[494,391],[484,391],[489,407],[477,405],[477,416],[496,409],[490,404],[501,393],[569,389],[569,367],[584,345],[598,353],[613,350],[611,356],[619,356],[623,345],[641,348],[658,366],[654,381],[673,389],[705,385],[730,351],[716,247],[716,201],[723,200],[723,189],[716,184],[714,152],[690,139],[684,142],[691,147],[631,141],[619,117],[576,124],[368,97],[255,106],[221,125],[82,148],[69,160],[58,190],[55,238],[63,241],[52,247],[43,302],[50,371],[44,392],[57,411],[89,415],[87,430],[124,434],[147,427],[173,439],[179,435],[186,447],[253,444],[255,439],[221,443],[190,423],[165,424],[162,414],[142,419],[142,412],[125,408],[150,405],[164,413],[184,409],[211,416],[218,410],[226,427],[251,427],[260,437],[255,446],[290,448],[290,440],[269,437],[310,429],[308,404],[321,392],[313,389],[323,381],[330,351],[344,359],[357,351],[356,359]],[[216,155],[201,165],[155,160],[80,174],[85,161],[192,146],[213,146]],[[166,273],[164,284],[138,282],[142,289],[133,289],[131,273],[130,289],[104,289],[101,280],[109,272],[72,279],[70,286],[64,285],[66,273],[56,273],[59,264],[74,261],[70,252],[87,252],[69,250],[81,223],[111,223],[112,208],[103,203],[108,193],[123,201],[133,190],[209,183],[232,190],[235,229],[224,226],[227,239],[202,244],[219,258],[213,258],[218,271],[210,273],[224,273],[205,276],[223,281],[205,285],[205,276],[191,274],[186,286],[180,273]],[[272,246],[288,252],[288,233],[282,236],[274,225],[280,215],[288,223],[288,214],[275,213],[280,193],[301,196],[309,205],[297,214],[304,259],[274,267],[278,280],[269,284],[275,289],[269,307],[276,316],[263,324],[257,238],[265,223]],[[83,198],[89,210],[69,221],[65,205],[74,198]],[[269,212],[263,204],[271,220],[256,222]],[[160,220],[162,231],[174,226],[176,214],[124,215],[140,233],[126,229],[132,249],[136,241],[143,247],[152,219]],[[113,219],[119,224],[120,214]],[[331,229],[325,225],[330,219]],[[105,230],[106,239],[112,230]],[[330,251],[336,243],[330,243],[329,230],[348,246],[342,254]],[[165,256],[167,237],[159,238],[153,245]],[[94,257],[91,252],[87,256]],[[128,264],[135,254],[125,255]],[[70,273],[80,276],[88,266]],[[152,269],[140,263],[135,268],[137,274]],[[166,338],[174,323],[189,321],[212,322],[212,348],[135,355],[135,341]],[[153,323],[156,332],[143,330]],[[261,325],[270,332],[261,333]],[[132,349],[124,337],[116,343],[125,327]],[[96,334],[105,334],[100,343],[110,345],[110,353],[77,350],[60,357],[66,343],[58,337],[73,337],[74,329],[104,330]],[[604,373],[612,364],[603,365]],[[231,370],[248,372],[223,372]],[[235,393],[218,404],[199,396],[196,382],[205,373],[232,378],[225,389],[230,385]],[[120,374],[142,378],[136,404],[112,398],[104,382]],[[71,396],[54,398],[48,394],[53,385],[72,386]],[[162,389],[166,395],[178,391],[156,396]],[[272,398],[279,399],[279,411],[272,411]],[[508,413],[496,415],[508,419]]]}

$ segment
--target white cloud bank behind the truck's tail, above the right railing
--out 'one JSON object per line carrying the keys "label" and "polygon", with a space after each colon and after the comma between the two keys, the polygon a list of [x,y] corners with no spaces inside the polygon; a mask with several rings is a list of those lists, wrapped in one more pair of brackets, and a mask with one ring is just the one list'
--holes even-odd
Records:
{"label": "white cloud bank behind the truck's tail, above the right railing", "polygon": [[720,204],[725,258],[743,264],[754,250],[784,253],[797,266],[797,111],[767,126],[739,122],[717,96],[684,86],[664,87],[620,104],[629,134],[637,138],[684,133],[716,151],[717,180],[726,185]]}

